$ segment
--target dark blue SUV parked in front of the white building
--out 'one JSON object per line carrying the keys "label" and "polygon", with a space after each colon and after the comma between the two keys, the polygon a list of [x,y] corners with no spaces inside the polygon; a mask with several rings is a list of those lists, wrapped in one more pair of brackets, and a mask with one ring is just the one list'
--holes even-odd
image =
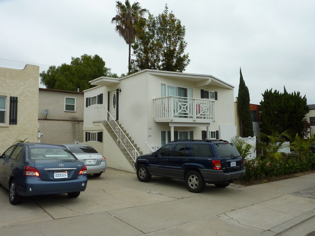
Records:
{"label": "dark blue SUV parked in front of the white building", "polygon": [[223,140],[170,142],[156,152],[139,156],[137,177],[147,182],[152,175],[185,180],[191,192],[200,192],[205,183],[225,188],[246,171],[244,158],[236,147]]}

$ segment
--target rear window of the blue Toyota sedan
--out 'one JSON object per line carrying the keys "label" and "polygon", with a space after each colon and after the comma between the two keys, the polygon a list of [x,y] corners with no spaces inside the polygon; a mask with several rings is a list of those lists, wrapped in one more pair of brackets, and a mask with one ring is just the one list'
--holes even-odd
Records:
{"label": "rear window of the blue Toyota sedan", "polygon": [[30,148],[30,159],[76,159],[62,148]]}

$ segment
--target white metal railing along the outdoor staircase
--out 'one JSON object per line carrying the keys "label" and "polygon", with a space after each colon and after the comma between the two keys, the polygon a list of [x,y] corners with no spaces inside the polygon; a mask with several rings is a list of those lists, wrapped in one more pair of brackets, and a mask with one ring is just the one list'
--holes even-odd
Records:
{"label": "white metal railing along the outdoor staircase", "polygon": [[94,118],[95,121],[106,121],[110,128],[113,130],[115,135],[117,136],[117,145],[122,144],[126,149],[128,155],[135,162],[137,157],[140,156],[138,150],[132,144],[132,142],[128,139],[122,128],[118,125],[115,119],[111,116],[110,112],[106,109],[106,107],[98,107],[94,110]]}

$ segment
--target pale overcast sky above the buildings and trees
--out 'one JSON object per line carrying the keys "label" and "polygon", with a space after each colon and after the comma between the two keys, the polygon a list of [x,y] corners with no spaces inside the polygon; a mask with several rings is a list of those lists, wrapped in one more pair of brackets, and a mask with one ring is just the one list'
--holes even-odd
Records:
{"label": "pale overcast sky above the buildings and trees", "polygon": [[[124,2],[124,0],[122,0]],[[131,3],[134,0],[130,0]],[[315,0],[138,0],[157,16],[165,4],[186,27],[185,72],[235,87],[239,68],[251,103],[267,89],[306,94],[315,104]],[[114,0],[0,0],[0,66],[69,64],[99,55],[127,73],[128,46],[111,24]]]}

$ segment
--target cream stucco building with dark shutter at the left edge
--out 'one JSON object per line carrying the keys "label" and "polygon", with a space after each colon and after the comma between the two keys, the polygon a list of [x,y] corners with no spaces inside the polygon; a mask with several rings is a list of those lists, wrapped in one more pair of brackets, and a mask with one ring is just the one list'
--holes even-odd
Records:
{"label": "cream stucco building with dark shutter at the left edge", "polygon": [[16,140],[37,142],[39,66],[0,67],[0,153]]}

